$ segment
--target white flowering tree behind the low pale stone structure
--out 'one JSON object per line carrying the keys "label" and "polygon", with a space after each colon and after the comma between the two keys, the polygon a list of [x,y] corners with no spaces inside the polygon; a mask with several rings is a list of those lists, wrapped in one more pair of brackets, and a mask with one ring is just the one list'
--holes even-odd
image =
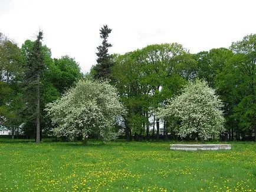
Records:
{"label": "white flowering tree behind the low pale stone structure", "polygon": [[204,80],[189,82],[182,94],[168,101],[168,105],[159,108],[158,116],[175,125],[180,137],[198,134],[202,142],[212,134],[224,131],[222,104],[215,90],[208,87]]}

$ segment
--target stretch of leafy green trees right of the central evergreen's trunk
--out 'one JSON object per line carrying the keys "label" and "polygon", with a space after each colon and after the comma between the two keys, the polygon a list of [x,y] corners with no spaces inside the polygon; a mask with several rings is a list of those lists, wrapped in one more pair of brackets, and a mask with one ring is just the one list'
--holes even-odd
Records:
{"label": "stretch of leafy green trees right of the central evergreen's trunk", "polygon": [[[132,136],[139,140],[142,135],[147,140],[150,136],[159,140],[160,131],[165,140],[168,133],[175,138],[175,127],[168,120],[160,120],[157,109],[196,79],[208,82],[222,100],[225,139],[252,140],[256,133],[255,65],[256,34],[250,34],[232,42],[229,48],[197,54],[191,54],[177,43],[148,45],[123,55],[113,54],[98,62],[91,75],[108,78],[119,91],[128,111],[123,126],[127,140]],[[106,66],[109,66],[107,70]],[[99,68],[109,73],[100,74]]]}

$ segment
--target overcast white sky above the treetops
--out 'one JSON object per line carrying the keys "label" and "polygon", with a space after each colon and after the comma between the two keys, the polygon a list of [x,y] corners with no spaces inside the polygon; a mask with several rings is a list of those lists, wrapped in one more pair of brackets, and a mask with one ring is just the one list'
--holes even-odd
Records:
{"label": "overcast white sky above the treetops", "polygon": [[0,32],[21,47],[42,29],[52,57],[69,55],[86,72],[104,24],[112,29],[110,53],[172,42],[196,53],[255,34],[255,8],[255,0],[0,0]]}

